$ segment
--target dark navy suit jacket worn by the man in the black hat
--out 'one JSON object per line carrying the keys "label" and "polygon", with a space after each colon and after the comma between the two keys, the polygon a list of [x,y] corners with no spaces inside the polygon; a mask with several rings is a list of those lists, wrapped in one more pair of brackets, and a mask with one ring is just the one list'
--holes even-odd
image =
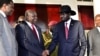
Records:
{"label": "dark navy suit jacket worn by the man in the black hat", "polygon": [[58,43],[58,56],[84,56],[86,38],[82,24],[77,20],[71,20],[68,34],[66,40],[64,21],[58,23],[54,29],[52,43],[48,48],[50,52]]}

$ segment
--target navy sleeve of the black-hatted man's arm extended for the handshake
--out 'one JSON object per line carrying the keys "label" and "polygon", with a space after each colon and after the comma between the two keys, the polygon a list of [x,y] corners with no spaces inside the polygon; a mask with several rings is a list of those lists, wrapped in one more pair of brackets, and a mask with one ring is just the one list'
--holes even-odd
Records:
{"label": "navy sleeve of the black-hatted man's arm extended for the handshake", "polygon": [[50,51],[50,53],[52,53],[54,51],[54,49],[55,49],[55,47],[56,47],[56,45],[58,43],[57,27],[55,27],[53,29],[52,35],[53,35],[52,42],[51,42],[51,44],[48,47],[48,50]]}

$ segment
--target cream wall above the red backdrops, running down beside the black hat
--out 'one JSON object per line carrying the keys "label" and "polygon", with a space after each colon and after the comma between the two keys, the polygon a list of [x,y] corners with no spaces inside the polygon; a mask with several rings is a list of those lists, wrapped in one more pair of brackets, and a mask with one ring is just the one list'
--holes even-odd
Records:
{"label": "cream wall above the red backdrops, running down beside the black hat", "polygon": [[28,4],[61,4],[70,5],[76,11],[76,15],[72,16],[74,19],[79,20],[78,5],[93,5],[92,2],[77,2],[77,0],[14,0],[15,3],[28,3]]}

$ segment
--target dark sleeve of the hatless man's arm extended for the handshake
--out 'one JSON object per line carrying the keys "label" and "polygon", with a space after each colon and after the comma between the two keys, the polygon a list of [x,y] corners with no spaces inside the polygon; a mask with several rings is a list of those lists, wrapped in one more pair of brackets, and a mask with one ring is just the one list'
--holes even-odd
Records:
{"label": "dark sleeve of the hatless man's arm extended for the handshake", "polygon": [[20,45],[22,48],[38,56],[42,55],[42,48],[34,46],[34,43],[26,38],[25,30],[20,25],[16,26],[16,39],[18,41],[18,45]]}

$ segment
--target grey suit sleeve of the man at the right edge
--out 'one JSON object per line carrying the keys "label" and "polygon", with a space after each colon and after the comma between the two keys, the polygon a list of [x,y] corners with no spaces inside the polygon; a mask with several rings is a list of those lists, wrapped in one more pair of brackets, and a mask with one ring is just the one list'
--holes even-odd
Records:
{"label": "grey suit sleeve of the man at the right edge", "polygon": [[87,56],[93,56],[92,54],[92,35],[90,32],[87,34]]}

